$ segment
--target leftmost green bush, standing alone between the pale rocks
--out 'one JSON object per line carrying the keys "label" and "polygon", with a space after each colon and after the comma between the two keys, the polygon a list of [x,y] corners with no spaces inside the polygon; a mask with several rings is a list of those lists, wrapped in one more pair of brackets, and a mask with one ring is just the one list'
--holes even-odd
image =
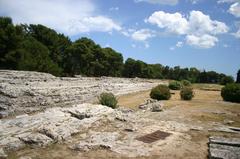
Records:
{"label": "leftmost green bush, standing alone between the pale rocks", "polygon": [[106,105],[113,109],[117,107],[117,99],[112,93],[102,93],[100,94],[98,100],[99,100],[99,103],[102,105]]}

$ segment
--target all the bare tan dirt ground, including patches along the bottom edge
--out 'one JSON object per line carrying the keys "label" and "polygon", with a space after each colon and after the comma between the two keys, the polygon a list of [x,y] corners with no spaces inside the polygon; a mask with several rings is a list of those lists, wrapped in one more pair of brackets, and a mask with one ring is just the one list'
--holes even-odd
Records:
{"label": "all the bare tan dirt ground, including patches along the bottom edge", "polygon": [[[143,118],[152,118],[159,122],[175,122],[196,126],[190,129],[179,141],[171,140],[167,146],[161,149],[157,156],[143,157],[155,158],[207,158],[208,137],[224,136],[240,138],[240,133],[226,133],[214,131],[215,125],[240,127],[240,104],[224,102],[220,95],[219,85],[194,85],[195,97],[191,101],[182,101],[179,91],[172,91],[172,97],[163,101],[164,111],[161,113],[143,114]],[[149,91],[141,91],[118,97],[119,105],[138,110],[138,106],[149,99]],[[107,125],[107,123],[105,123]],[[111,126],[102,127],[102,131]],[[200,127],[198,129],[198,127]],[[113,128],[113,127],[111,127]],[[176,128],[178,131],[178,128]],[[32,150],[31,148],[10,155],[10,158],[36,153],[39,158],[123,158],[112,154],[107,150],[97,150],[88,153],[70,151],[64,144],[55,144],[51,147]],[[138,157],[141,158],[141,157]]]}

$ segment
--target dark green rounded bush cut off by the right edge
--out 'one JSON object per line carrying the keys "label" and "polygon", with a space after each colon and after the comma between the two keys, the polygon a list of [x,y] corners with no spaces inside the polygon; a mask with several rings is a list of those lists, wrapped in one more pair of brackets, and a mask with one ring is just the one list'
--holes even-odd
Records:
{"label": "dark green rounded bush cut off by the right edge", "polygon": [[227,84],[222,88],[221,96],[225,101],[240,103],[240,84]]}

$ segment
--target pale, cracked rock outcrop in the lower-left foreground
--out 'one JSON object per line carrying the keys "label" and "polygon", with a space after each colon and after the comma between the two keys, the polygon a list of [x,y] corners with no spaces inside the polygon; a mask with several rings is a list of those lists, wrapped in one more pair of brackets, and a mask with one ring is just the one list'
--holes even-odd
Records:
{"label": "pale, cracked rock outcrop in the lower-left foreground", "polygon": [[[69,112],[85,113],[88,118],[78,119]],[[113,109],[102,105],[80,104],[68,108],[49,108],[32,116],[2,120],[0,147],[12,151],[21,149],[26,144],[46,146],[54,141],[60,142],[85,131],[93,123],[113,115],[113,112]]]}

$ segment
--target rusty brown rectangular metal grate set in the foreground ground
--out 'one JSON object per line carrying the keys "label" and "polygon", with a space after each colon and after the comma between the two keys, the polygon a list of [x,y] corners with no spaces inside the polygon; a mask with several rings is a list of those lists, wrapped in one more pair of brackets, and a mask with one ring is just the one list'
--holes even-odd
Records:
{"label": "rusty brown rectangular metal grate set in the foreground ground", "polygon": [[166,137],[170,136],[171,133],[167,133],[167,132],[163,132],[163,131],[155,131],[151,134],[147,134],[144,136],[141,136],[139,138],[136,138],[138,141],[142,141],[145,143],[152,143],[155,142],[157,140],[164,140]]}

